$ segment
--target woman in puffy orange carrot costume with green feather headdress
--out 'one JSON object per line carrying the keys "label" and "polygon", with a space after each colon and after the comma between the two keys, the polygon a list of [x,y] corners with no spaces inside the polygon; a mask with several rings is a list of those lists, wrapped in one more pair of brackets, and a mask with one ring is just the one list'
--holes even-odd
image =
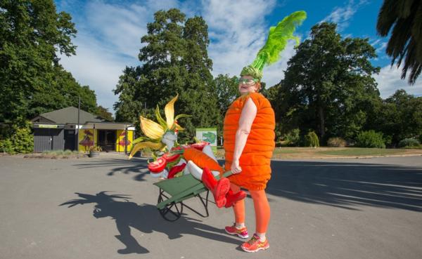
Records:
{"label": "woman in puffy orange carrot costume with green feather headdress", "polygon": [[[265,236],[270,218],[270,208],[265,194],[267,182],[271,178],[270,161],[275,147],[274,110],[267,98],[260,91],[260,80],[264,65],[279,60],[279,53],[293,36],[295,27],[305,20],[306,13],[298,11],[284,18],[276,27],[271,27],[267,43],[257,58],[247,67],[243,67],[238,84],[241,97],[234,100],[224,118],[224,150],[226,170],[231,170],[229,177],[231,191],[239,192],[241,187],[248,190],[255,207],[256,232],[242,244],[246,252],[256,252],[269,248]],[[232,226],[225,227],[229,234],[248,238],[245,227],[244,200],[234,203]]]}

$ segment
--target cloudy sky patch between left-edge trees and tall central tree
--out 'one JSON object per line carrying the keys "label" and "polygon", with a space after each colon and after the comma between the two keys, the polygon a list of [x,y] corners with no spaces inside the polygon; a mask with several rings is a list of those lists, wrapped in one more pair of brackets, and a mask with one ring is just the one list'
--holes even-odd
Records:
{"label": "cloudy sky patch between left-edge trees and tall central tree", "polygon": [[[58,4],[65,11],[72,10],[67,1]],[[146,34],[146,24],[153,20],[153,13],[162,8],[177,6],[177,1],[147,1],[145,5],[106,4],[89,1],[77,6],[72,13],[77,21],[77,55],[61,56],[60,63],[72,72],[79,84],[89,85],[96,92],[98,105],[112,113],[118,96],[113,94],[122,70],[139,65],[141,36]],[[61,11],[61,10],[59,10]]]}

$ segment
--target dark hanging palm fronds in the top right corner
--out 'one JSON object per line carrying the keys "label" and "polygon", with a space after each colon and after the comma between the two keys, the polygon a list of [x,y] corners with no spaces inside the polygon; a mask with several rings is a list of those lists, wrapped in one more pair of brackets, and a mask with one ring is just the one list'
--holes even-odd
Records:
{"label": "dark hanging palm fronds in the top right corner", "polygon": [[[378,34],[387,36],[385,53],[392,57],[391,66],[404,61],[402,79],[411,70],[409,84],[415,84],[422,70],[422,1],[384,0],[376,24]],[[403,60],[404,59],[404,60]]]}

